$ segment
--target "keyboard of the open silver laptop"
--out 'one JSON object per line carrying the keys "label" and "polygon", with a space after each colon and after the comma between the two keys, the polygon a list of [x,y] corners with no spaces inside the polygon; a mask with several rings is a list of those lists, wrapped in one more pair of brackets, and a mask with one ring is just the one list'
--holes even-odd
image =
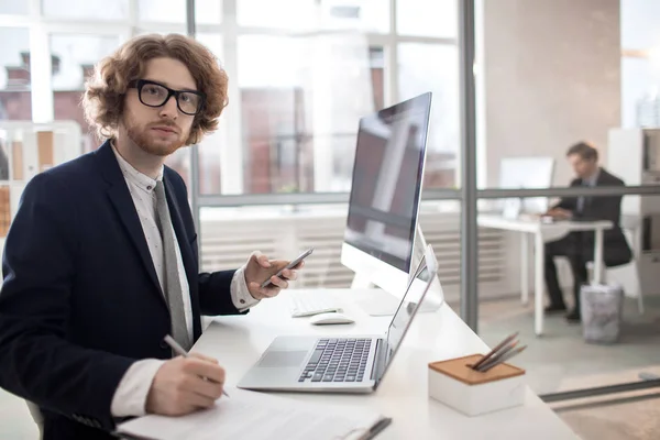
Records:
{"label": "keyboard of the open silver laptop", "polygon": [[371,339],[320,339],[298,382],[362,382]]}

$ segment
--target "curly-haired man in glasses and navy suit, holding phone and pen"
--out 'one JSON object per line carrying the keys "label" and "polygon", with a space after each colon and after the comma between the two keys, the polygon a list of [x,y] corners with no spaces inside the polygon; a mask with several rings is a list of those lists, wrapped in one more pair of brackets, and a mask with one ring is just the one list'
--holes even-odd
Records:
{"label": "curly-haired man in glasses and navy suit, holding phone and pen", "polygon": [[189,37],[127,42],[86,87],[103,144],[25,188],[3,255],[0,386],[38,406],[43,439],[110,439],[118,419],[212,406],[224,370],[173,359],[163,338],[189,350],[201,315],[248,312],[295,279],[258,252],[198,271],[186,186],[164,161],[217,128],[227,81]]}

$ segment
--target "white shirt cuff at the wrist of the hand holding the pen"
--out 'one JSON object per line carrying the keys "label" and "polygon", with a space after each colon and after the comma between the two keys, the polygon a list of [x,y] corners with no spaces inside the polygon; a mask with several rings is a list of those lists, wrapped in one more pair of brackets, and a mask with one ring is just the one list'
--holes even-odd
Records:
{"label": "white shirt cuff at the wrist of the hand holding the pen", "polygon": [[156,373],[166,361],[145,359],[129,367],[114,392],[110,413],[112,417],[146,415],[146,397]]}

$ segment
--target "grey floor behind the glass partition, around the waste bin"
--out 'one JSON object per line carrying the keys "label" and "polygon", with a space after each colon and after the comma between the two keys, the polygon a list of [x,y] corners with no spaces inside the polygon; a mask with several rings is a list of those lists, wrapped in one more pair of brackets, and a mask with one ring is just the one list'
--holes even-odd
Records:
{"label": "grey floor behind the glass partition, around the waste bin", "polygon": [[613,345],[585,343],[581,326],[562,316],[547,317],[543,336],[536,337],[531,305],[522,307],[518,299],[482,304],[479,332],[494,345],[519,331],[528,348],[516,363],[539,394],[636,381],[639,372],[660,367],[660,298],[646,302],[640,316],[632,300],[625,301],[620,339]]}

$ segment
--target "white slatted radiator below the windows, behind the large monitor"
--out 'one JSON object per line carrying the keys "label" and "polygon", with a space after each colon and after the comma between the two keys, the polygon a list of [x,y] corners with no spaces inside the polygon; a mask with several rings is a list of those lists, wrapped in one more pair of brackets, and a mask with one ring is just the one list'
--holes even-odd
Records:
{"label": "white slatted radiator below the windows, behind the large monitor", "polygon": [[[216,215],[218,216],[218,215]],[[457,297],[461,283],[460,215],[420,212],[420,226],[438,258],[438,276],[446,296]],[[308,248],[305,271],[293,288],[349,287],[353,272],[340,262],[345,210],[312,210],[284,215],[228,213],[202,218],[200,231],[202,271],[237,268],[258,250],[273,258],[290,260]],[[502,290],[506,266],[505,233],[479,230],[479,283],[486,292]]]}

